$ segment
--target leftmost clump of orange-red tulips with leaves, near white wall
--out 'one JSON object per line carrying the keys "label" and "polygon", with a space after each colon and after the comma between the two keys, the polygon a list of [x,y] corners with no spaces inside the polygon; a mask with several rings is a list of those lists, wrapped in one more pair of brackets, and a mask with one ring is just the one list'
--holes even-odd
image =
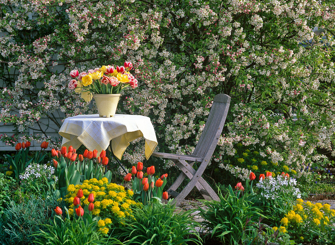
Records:
{"label": "leftmost clump of orange-red tulips with leaves, near white wall", "polygon": [[49,142],[44,141],[41,144],[41,150],[36,152],[35,157],[29,157],[30,141],[17,143],[15,146],[16,154],[13,158],[10,155],[6,155],[6,159],[9,162],[12,170],[15,174],[15,178],[20,180],[20,174],[24,174],[25,169],[32,163],[40,164],[44,160],[44,150],[48,148]]}

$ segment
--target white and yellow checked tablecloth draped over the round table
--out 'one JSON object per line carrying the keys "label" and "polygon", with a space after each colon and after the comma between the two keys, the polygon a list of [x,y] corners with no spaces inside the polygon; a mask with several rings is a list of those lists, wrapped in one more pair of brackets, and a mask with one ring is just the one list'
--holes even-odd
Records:
{"label": "white and yellow checked tablecloth draped over the round table", "polygon": [[59,134],[62,147],[78,149],[83,144],[89,151],[106,150],[112,141],[114,155],[121,159],[129,142],[144,137],[145,157],[148,159],[157,146],[157,138],[150,118],[141,115],[115,114],[113,117],[93,115],[71,116],[64,120]]}

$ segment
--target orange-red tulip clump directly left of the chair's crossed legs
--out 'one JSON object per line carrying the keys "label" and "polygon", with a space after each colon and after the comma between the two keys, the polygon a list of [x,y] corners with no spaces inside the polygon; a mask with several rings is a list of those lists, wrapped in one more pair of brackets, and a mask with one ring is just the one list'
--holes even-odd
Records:
{"label": "orange-red tulip clump directly left of the chair's crossed legs", "polygon": [[143,163],[138,162],[136,167],[132,166],[131,173],[124,177],[125,181],[132,182],[134,201],[141,201],[143,205],[147,205],[150,202],[160,202],[161,199],[166,200],[169,195],[166,191],[163,192],[163,188],[166,185],[167,174],[163,174],[156,180],[153,176],[155,167],[151,166],[147,168],[148,178],[143,178],[142,170]]}

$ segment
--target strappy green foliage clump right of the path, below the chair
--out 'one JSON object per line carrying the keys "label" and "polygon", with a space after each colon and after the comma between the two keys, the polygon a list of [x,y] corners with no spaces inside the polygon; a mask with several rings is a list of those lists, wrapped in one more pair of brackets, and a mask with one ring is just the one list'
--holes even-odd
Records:
{"label": "strappy green foliage clump right of the path, below the chair", "polygon": [[[237,195],[240,193],[237,191]],[[256,222],[262,216],[260,209],[248,200],[249,194],[238,198],[231,186],[225,197],[220,190],[218,196],[220,201],[203,201],[208,209],[199,209],[199,214],[205,219],[202,224],[212,232],[211,237],[227,244],[239,244],[244,239],[247,223]]]}

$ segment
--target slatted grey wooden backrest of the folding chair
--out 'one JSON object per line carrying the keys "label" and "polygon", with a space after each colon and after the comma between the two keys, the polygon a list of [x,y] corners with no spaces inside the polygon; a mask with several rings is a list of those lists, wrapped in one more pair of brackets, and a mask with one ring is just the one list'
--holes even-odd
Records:
{"label": "slatted grey wooden backrest of the folding chair", "polygon": [[220,93],[215,95],[205,128],[201,133],[199,142],[192,155],[209,160],[212,157],[224,122],[228,113],[230,96]]}

